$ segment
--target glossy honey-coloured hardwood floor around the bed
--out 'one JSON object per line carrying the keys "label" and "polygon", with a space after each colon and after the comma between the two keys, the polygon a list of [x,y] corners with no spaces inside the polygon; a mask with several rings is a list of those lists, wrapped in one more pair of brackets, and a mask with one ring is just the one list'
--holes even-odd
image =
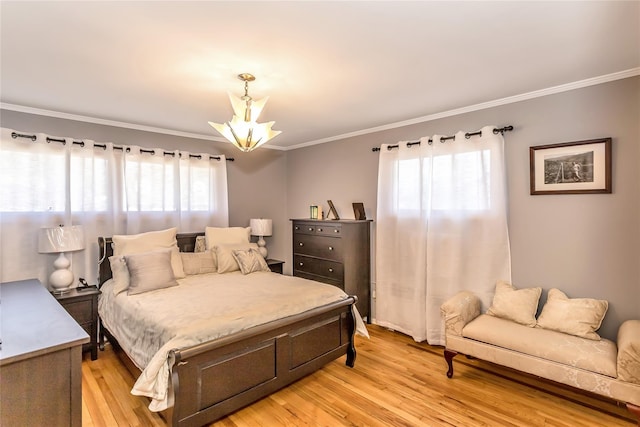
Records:
{"label": "glossy honey-coloured hardwood floor around the bed", "polygon": [[[624,407],[369,325],[344,357],[211,426],[633,426]],[[164,426],[110,346],[82,362],[83,426]]]}

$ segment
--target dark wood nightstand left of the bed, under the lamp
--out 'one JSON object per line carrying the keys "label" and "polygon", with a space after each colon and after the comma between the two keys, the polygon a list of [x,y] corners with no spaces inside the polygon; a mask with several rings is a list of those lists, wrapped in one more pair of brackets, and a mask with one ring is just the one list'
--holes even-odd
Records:
{"label": "dark wood nightstand left of the bed, under the lamp", "polygon": [[71,289],[63,294],[53,294],[65,310],[89,334],[89,342],[82,351],[91,350],[91,360],[98,358],[98,295],[97,287],[78,291]]}

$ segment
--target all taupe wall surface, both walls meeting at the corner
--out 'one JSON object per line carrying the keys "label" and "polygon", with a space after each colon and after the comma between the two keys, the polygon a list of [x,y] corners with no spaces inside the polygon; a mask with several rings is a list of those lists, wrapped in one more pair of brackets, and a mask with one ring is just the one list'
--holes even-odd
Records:
{"label": "all taupe wall surface, both walls meeting at the corner", "polygon": [[[367,217],[375,219],[378,154],[371,148],[435,133],[513,125],[505,139],[514,284],[607,299],[610,308],[601,332],[615,338],[622,320],[640,318],[639,117],[640,77],[634,77],[288,152],[241,153],[224,143],[6,110],[0,124],[25,132],[234,157],[228,164],[230,225],[272,218],[269,255],[286,260],[289,273],[289,219],[306,218],[309,205],[321,203],[326,209],[331,199],[341,217],[353,218],[351,203],[363,202]],[[529,195],[530,146],[607,136],[613,138],[613,194]]]}

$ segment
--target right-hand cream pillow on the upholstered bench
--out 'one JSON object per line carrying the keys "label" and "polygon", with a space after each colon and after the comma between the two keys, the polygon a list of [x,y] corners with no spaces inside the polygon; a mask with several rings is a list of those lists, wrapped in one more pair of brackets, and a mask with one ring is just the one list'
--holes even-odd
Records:
{"label": "right-hand cream pillow on the upholstered bench", "polygon": [[599,341],[596,331],[608,308],[609,303],[604,300],[568,298],[561,290],[550,289],[537,326]]}

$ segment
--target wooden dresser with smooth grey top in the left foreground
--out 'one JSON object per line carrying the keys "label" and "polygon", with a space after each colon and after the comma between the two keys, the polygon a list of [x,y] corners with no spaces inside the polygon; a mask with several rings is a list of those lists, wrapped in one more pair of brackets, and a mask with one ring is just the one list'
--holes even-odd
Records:
{"label": "wooden dresser with smooth grey top in the left foreground", "polygon": [[0,425],[82,426],[89,335],[35,279],[0,284]]}

